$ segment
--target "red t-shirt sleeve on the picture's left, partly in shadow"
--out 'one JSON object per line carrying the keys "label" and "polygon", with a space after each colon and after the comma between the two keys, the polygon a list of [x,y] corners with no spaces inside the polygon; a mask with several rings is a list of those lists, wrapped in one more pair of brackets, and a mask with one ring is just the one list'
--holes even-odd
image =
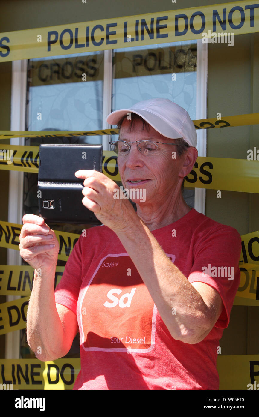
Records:
{"label": "red t-shirt sleeve on the picture's left, partly in shadow", "polygon": [[82,235],[67,260],[62,278],[55,289],[55,301],[76,314],[76,304],[82,284]]}

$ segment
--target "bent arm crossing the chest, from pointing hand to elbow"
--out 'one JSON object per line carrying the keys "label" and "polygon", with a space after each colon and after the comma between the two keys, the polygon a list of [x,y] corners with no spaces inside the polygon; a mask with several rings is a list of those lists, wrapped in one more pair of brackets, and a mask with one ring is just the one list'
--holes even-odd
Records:
{"label": "bent arm crossing the chest, from pointing hand to elbow", "polygon": [[[77,171],[84,180],[84,206],[116,233],[148,288],[171,336],[202,341],[220,316],[222,300],[207,284],[192,285],[170,261],[128,200],[113,198],[116,183],[97,171]],[[195,286],[198,288],[195,289]],[[172,314],[175,309],[175,314]]]}

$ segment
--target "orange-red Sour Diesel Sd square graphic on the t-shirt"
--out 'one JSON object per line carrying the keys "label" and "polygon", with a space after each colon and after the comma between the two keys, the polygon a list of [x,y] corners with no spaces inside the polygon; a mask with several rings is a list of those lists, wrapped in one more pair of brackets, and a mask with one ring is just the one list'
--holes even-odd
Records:
{"label": "orange-red Sour Diesel Sd square graphic on the t-shirt", "polygon": [[79,311],[85,351],[150,352],[155,346],[157,308],[128,254],[100,261]]}

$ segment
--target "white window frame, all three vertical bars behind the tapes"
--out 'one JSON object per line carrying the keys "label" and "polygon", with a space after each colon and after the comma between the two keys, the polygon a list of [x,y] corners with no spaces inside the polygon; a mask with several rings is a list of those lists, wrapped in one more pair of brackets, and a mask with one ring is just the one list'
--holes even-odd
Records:
{"label": "white window frame, all three vertical bars behind the tapes", "polygon": [[[161,44],[163,45],[163,44]],[[112,56],[113,50],[104,51],[104,102],[103,129],[110,128],[106,117],[111,113],[112,93]],[[207,118],[207,44],[197,40],[197,99],[196,119]],[[26,89],[27,89],[27,60],[12,61],[12,90],[11,90],[11,131],[25,130]],[[197,150],[199,156],[206,156],[207,131],[197,130]],[[110,136],[102,137],[104,150],[109,150]],[[24,145],[24,138],[10,139],[10,145]],[[8,221],[22,224],[23,210],[23,179],[21,171],[9,172],[9,201]],[[195,210],[205,214],[205,188],[195,188]],[[21,265],[20,252],[7,249],[7,265]],[[20,296],[7,296],[7,301],[19,299]],[[20,330],[5,334],[5,359],[20,358]]]}

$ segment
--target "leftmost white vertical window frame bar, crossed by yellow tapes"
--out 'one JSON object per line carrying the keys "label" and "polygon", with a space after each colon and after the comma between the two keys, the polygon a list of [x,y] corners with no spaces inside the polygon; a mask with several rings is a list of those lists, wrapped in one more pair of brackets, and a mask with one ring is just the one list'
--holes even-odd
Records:
{"label": "leftmost white vertical window frame bar, crossed by yellow tapes", "polygon": [[[25,130],[27,60],[12,61],[11,131]],[[10,139],[10,145],[24,145],[24,138]],[[9,171],[8,221],[22,224],[23,172]],[[7,249],[7,265],[21,265],[20,252]],[[7,296],[7,301],[20,299]],[[20,359],[20,330],[5,334],[5,359]]]}

